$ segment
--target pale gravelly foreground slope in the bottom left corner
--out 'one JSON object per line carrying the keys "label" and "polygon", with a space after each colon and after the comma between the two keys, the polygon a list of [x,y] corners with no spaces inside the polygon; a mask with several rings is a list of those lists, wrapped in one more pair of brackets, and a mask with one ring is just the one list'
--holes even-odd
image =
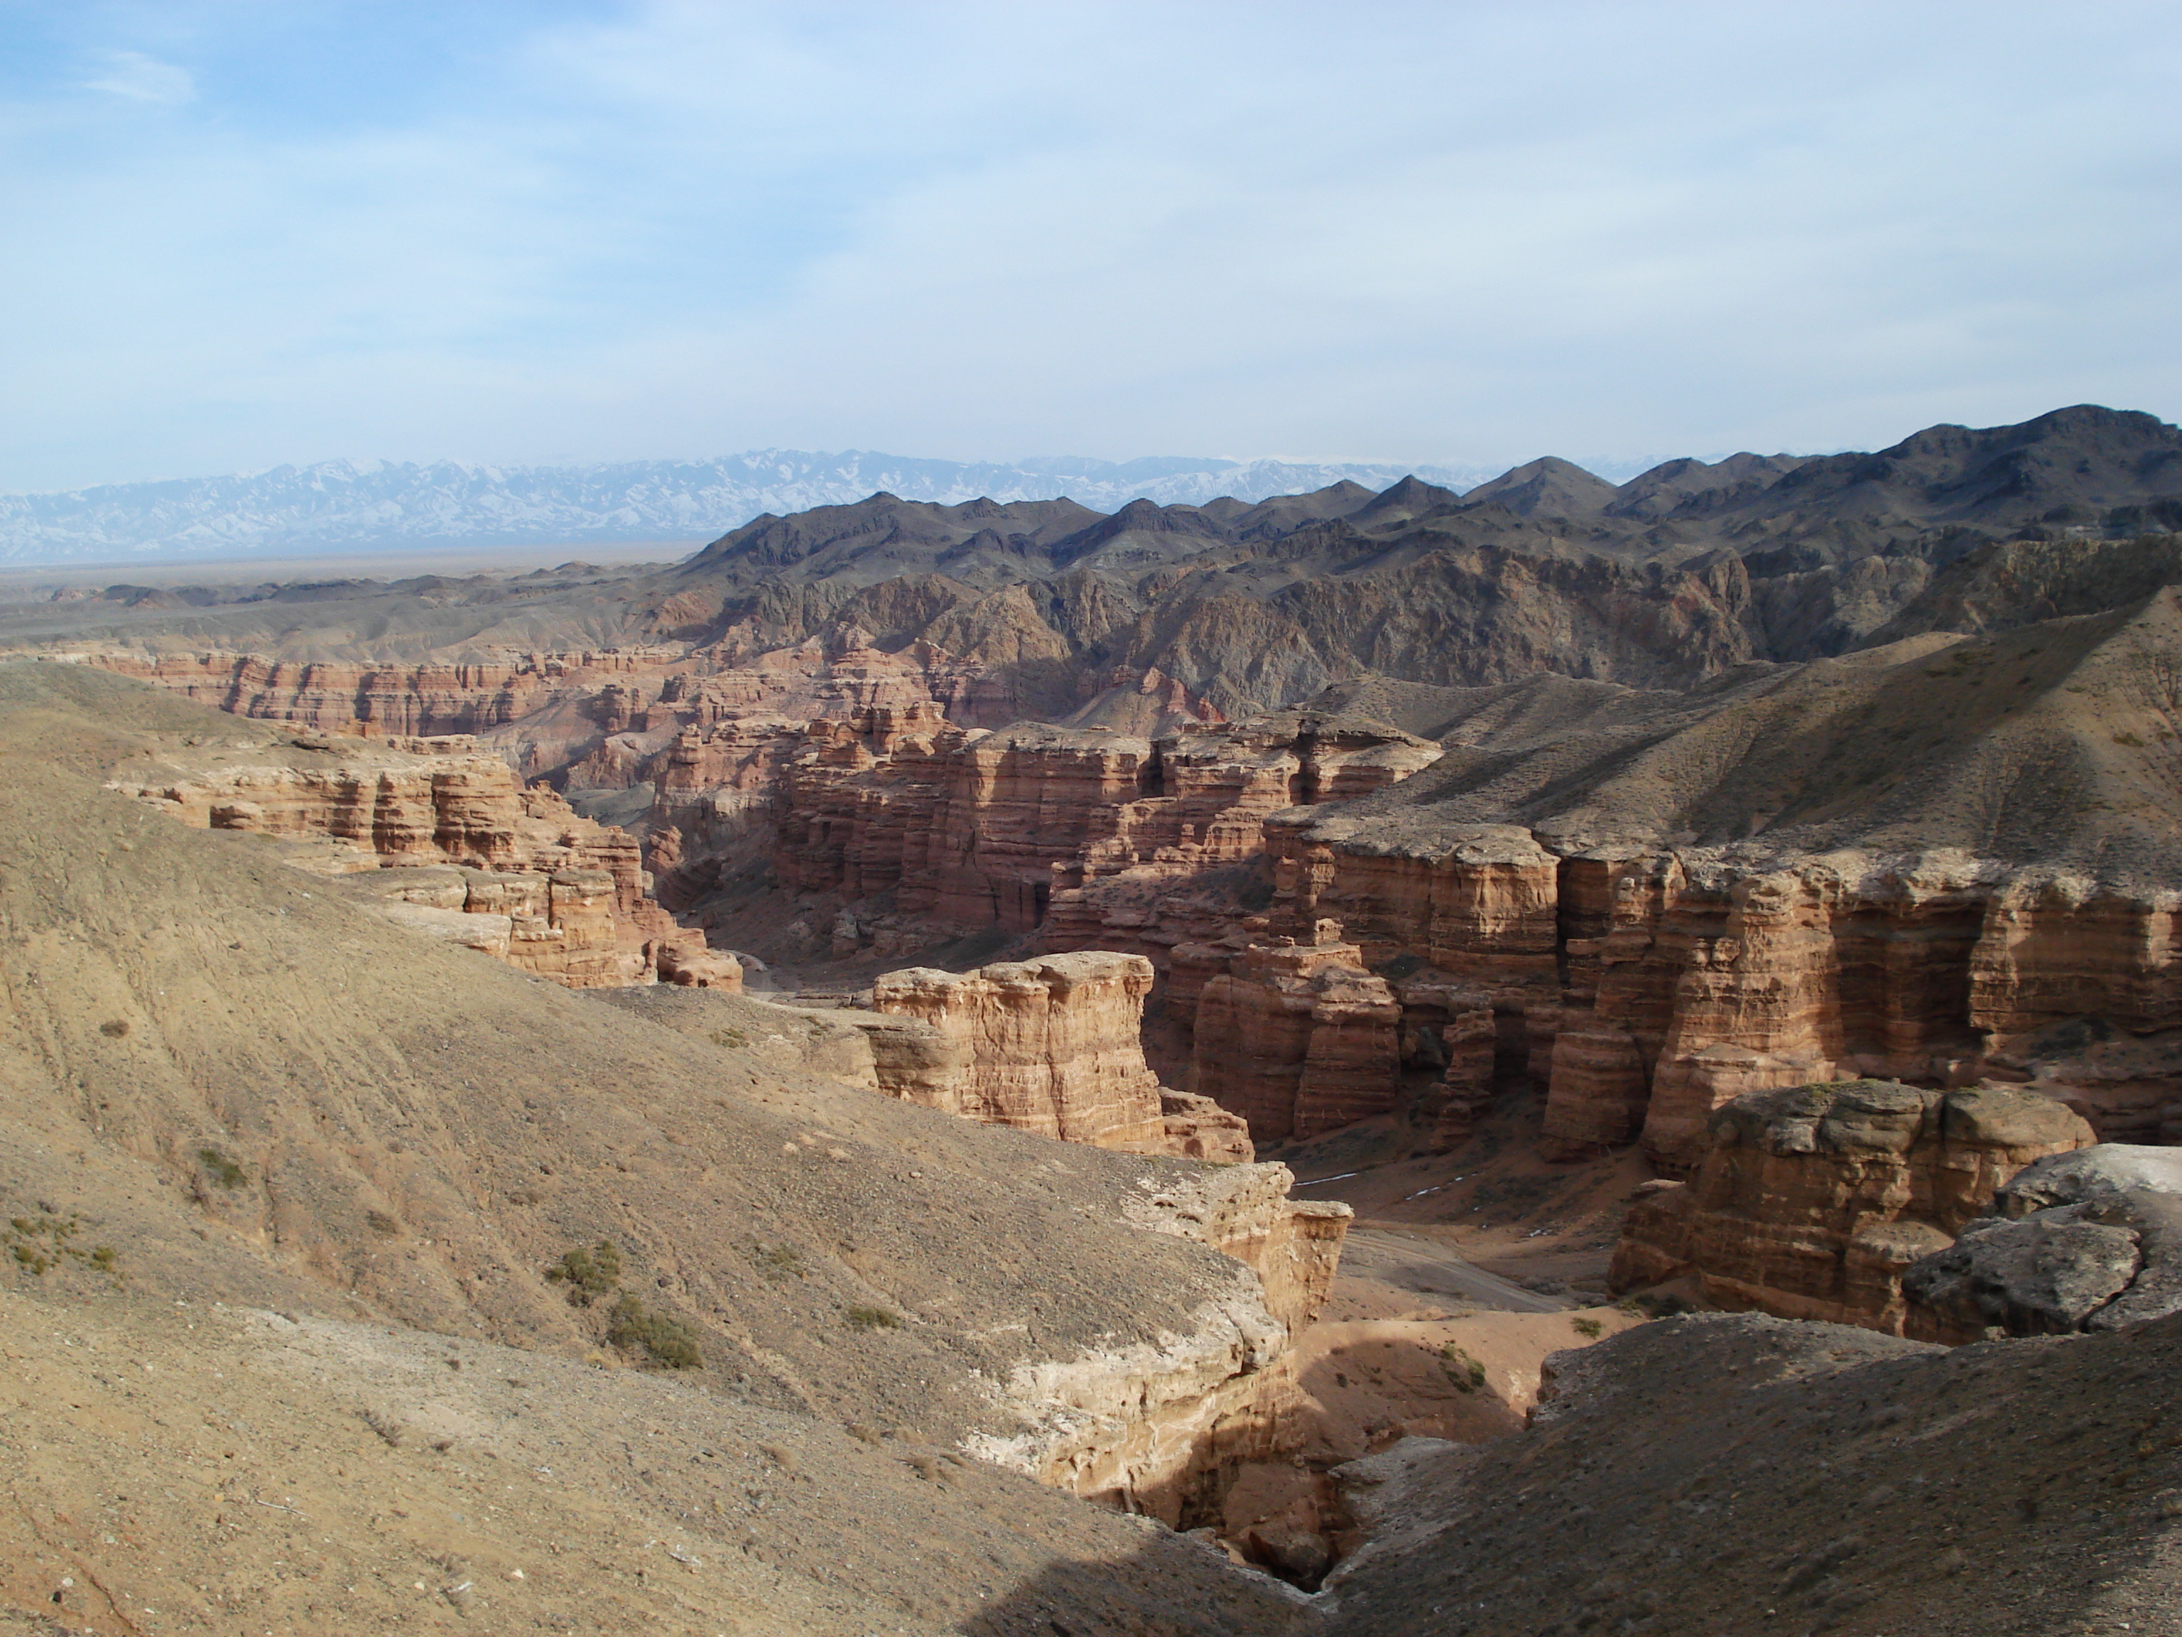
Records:
{"label": "pale gravelly foreground slope in the bottom left corner", "polygon": [[0,1288],[0,1633],[1015,1637],[1300,1617],[1196,1541],[914,1436],[290,1314],[79,1275]]}

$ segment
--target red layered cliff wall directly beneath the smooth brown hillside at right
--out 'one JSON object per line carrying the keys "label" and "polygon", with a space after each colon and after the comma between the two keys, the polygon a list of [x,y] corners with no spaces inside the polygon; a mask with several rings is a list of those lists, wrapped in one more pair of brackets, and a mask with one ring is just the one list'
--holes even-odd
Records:
{"label": "red layered cliff wall directly beneath the smooth brown hillside at right", "polygon": [[2101,1137],[2182,1133],[2182,895],[1964,853],[1602,847],[1506,825],[1266,823],[1270,923],[1338,915],[1368,969],[1490,997],[1501,1076],[1547,1087],[1564,1157],[1693,1170],[1746,1091],[1885,1076],[2027,1083]]}

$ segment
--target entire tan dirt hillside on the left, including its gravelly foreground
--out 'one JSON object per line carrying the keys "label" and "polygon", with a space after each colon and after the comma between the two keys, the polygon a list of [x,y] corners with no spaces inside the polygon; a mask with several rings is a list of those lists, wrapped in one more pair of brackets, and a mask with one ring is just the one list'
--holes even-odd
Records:
{"label": "entire tan dirt hillside on the left, including its gravelly foreground", "polygon": [[[1189,1331],[1233,1286],[1224,1257],[1122,1224],[1159,1161],[873,1098],[421,943],[271,843],[100,790],[153,731],[238,725],[79,668],[0,672],[20,1622],[92,1589],[137,1630],[275,1604],[281,1630],[338,1628],[349,1596],[401,1624],[452,1613],[417,1580],[489,1572],[511,1598],[521,1567],[552,1587],[526,1628],[626,1628],[631,1598],[676,1630],[731,1609],[744,1630],[975,1630],[984,1587],[1082,1563],[1104,1591],[1069,1630],[1279,1628],[1281,1596],[1220,1558],[1174,1543],[1106,1576],[1132,1524],[936,1454],[1012,1364]],[[548,1268],[600,1240],[618,1290],[572,1305]],[[609,1345],[615,1294],[687,1327],[703,1366],[622,1369],[650,1349]],[[875,1521],[949,1489],[945,1524]],[[744,1554],[711,1499],[770,1545]],[[314,1528],[277,1532],[297,1515]],[[733,1561],[731,1596],[674,1578],[696,1572],[655,1534]],[[973,1565],[940,1576],[932,1550]],[[430,1552],[460,1567],[425,1574]]]}

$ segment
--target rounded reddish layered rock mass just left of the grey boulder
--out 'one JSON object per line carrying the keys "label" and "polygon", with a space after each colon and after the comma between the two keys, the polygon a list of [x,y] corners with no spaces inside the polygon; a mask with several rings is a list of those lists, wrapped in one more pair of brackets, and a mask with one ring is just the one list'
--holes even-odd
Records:
{"label": "rounded reddish layered rock mass just left of the grey boulder", "polygon": [[1735,1098],[1689,1183],[1639,1196],[1615,1288],[1693,1277],[1717,1307],[1901,1336],[1903,1270],[1944,1251],[2010,1176],[2093,1144],[2034,1091],[1848,1080]]}

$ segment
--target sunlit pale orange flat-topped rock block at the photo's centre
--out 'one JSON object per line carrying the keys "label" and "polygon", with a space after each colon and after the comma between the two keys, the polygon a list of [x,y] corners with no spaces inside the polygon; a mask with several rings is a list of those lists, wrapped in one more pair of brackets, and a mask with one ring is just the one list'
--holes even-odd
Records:
{"label": "sunlit pale orange flat-topped rock block at the photo's centre", "polygon": [[890,971],[873,984],[879,1017],[844,1017],[871,1037],[879,1089],[908,1102],[1095,1148],[1248,1161],[1237,1115],[1146,1065],[1150,991],[1143,956],[1082,952]]}

